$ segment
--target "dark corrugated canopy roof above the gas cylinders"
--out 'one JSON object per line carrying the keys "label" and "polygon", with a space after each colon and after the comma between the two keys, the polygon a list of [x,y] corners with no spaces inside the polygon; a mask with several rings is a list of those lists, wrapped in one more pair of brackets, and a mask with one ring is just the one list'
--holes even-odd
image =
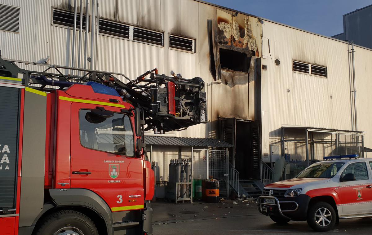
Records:
{"label": "dark corrugated canopy roof above the gas cylinders", "polygon": [[221,147],[232,148],[231,144],[219,139],[208,138],[189,138],[189,137],[169,137],[146,135],[147,145],[167,145],[167,146],[189,146],[189,147]]}

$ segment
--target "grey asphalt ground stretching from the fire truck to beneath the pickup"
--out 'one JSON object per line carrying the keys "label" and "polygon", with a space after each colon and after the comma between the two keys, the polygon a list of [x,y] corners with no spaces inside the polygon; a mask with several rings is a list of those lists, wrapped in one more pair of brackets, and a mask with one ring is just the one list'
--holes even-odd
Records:
{"label": "grey asphalt ground stretching from the fire truck to beneath the pickup", "polygon": [[[237,203],[237,204],[234,204]],[[260,214],[254,201],[220,203],[169,203],[158,201],[154,209],[154,235],[253,235],[253,234],[371,234],[372,219],[340,220],[333,230],[314,232],[307,222],[278,225]]]}

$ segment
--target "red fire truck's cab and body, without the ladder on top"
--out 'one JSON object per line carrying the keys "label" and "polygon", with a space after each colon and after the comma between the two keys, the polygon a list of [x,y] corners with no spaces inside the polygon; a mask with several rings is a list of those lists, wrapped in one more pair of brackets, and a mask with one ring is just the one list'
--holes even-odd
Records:
{"label": "red fire truck's cab and body, without the ladder on top", "polygon": [[144,121],[114,88],[46,93],[1,67],[0,112],[0,234],[152,234]]}

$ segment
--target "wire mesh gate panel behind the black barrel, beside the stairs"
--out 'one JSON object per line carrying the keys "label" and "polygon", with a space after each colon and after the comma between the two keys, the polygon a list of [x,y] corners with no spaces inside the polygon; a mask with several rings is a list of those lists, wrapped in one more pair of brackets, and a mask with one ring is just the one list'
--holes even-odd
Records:
{"label": "wire mesh gate panel behind the black barrel, beside the stairs", "polygon": [[219,181],[219,196],[228,197],[228,154],[226,150],[212,150],[208,162],[209,178]]}

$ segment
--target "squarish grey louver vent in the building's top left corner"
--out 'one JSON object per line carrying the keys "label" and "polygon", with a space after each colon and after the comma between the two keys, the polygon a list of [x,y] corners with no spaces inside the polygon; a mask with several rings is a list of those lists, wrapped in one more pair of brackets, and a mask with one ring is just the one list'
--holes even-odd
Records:
{"label": "squarish grey louver vent in the building's top left corner", "polygon": [[19,7],[0,4],[0,30],[19,33]]}

